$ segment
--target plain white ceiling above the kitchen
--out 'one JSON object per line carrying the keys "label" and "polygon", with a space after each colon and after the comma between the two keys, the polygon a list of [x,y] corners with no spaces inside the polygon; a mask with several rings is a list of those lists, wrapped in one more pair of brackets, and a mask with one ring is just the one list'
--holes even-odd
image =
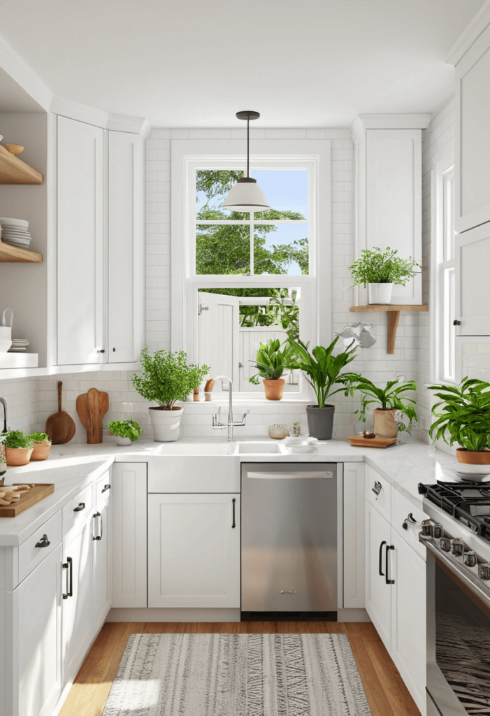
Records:
{"label": "plain white ceiling above the kitchen", "polygon": [[[0,0],[1,33],[57,95],[154,127],[348,127],[432,112],[483,0]],[[241,125],[240,125],[241,126]]]}

